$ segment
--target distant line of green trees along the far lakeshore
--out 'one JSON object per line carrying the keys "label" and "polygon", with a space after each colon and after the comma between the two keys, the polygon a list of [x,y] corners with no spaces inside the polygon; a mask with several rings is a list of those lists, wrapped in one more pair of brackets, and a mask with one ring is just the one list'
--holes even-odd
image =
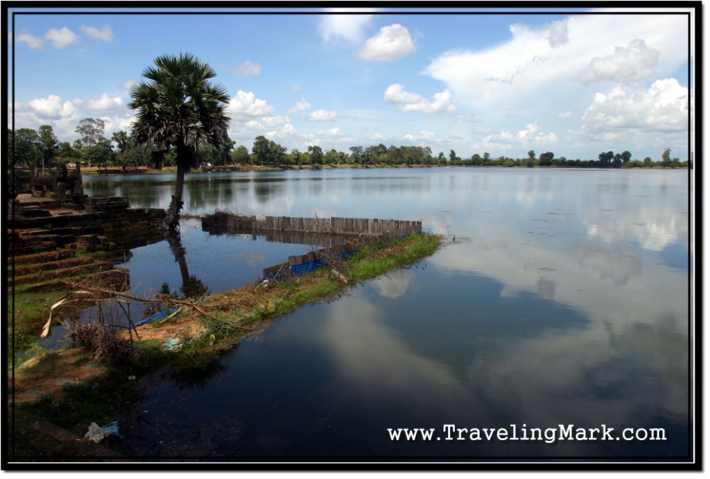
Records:
{"label": "distant line of green trees along the far lakeshore", "polygon": [[[75,130],[79,139],[70,143],[60,141],[55,136],[52,126],[43,125],[38,130],[19,128],[7,131],[8,166],[31,168],[37,172],[51,168],[58,163],[80,163],[95,167],[126,168],[175,165],[174,151],[155,154],[151,148],[136,148],[130,133],[116,131],[111,138],[104,136],[105,125],[101,119],[82,119]],[[660,160],[646,157],[643,160],[632,159],[628,150],[622,153],[605,151],[599,153],[596,160],[580,160],[555,157],[551,151],[536,155],[535,150],[528,151],[526,158],[499,156],[492,158],[490,153],[474,153],[470,158],[460,158],[454,150],[448,155],[440,151],[435,155],[428,146],[386,146],[354,145],[347,152],[334,148],[323,151],[319,145],[308,145],[307,150],[288,148],[257,136],[251,145],[251,151],[245,145],[236,145],[227,138],[217,148],[214,145],[202,145],[200,148],[202,165],[263,165],[273,167],[312,168],[323,165],[359,165],[374,166],[498,166],[498,167],[579,167],[579,168],[643,168],[643,167],[688,167],[688,161],[671,158],[671,149],[665,148]]]}

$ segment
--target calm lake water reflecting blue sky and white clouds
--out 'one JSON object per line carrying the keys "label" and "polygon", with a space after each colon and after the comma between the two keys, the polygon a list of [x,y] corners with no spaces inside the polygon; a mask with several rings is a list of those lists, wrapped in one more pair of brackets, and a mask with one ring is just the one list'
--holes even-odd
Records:
{"label": "calm lake water reflecting blue sky and white clouds", "polygon": [[[167,208],[174,175],[85,177]],[[415,219],[447,246],[282,316],[211,362],[142,378],[119,425],[165,458],[670,458],[689,454],[687,170],[497,168],[191,174],[186,214]],[[455,240],[454,240],[455,236]],[[131,250],[136,294],[241,287],[305,245],[182,221]],[[613,428],[595,441],[458,440],[457,428]],[[434,429],[431,441],[388,429]],[[616,440],[663,428],[665,441]],[[514,432],[515,431],[517,432]],[[530,436],[531,432],[528,432]],[[599,434],[598,434],[599,435]],[[640,434],[643,436],[643,432]],[[589,437],[589,436],[588,436]],[[439,440],[437,440],[437,438]]]}

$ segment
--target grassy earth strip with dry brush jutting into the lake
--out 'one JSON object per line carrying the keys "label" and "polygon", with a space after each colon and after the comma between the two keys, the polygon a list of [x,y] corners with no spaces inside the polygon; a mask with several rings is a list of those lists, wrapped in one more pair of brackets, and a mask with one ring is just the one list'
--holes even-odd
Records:
{"label": "grassy earth strip with dry brush jutting into the lake", "polygon": [[[413,265],[434,253],[441,243],[441,236],[413,234],[388,243],[363,244],[349,258],[333,260],[327,267],[300,277],[253,282],[200,301],[163,296],[155,299],[156,304],[170,310],[180,306],[180,312],[138,326],[131,331],[132,341],[128,332],[107,335],[95,326],[70,329],[71,346],[37,356],[13,371],[11,460],[111,456],[105,447],[86,448],[86,444],[69,439],[49,440],[46,434],[38,434],[38,424],[50,419],[50,426],[66,436],[83,436],[91,422],[113,422],[119,412],[140,399],[136,378],[163,366],[182,371],[197,364],[202,370],[205,364],[217,361],[221,351],[278,316],[332,298],[346,287],[393,268]],[[106,446],[120,450],[121,441],[109,439]]]}

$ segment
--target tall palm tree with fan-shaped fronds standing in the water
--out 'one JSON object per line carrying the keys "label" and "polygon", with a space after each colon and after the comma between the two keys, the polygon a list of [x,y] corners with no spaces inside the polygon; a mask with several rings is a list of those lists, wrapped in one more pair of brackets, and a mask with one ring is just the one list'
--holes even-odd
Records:
{"label": "tall palm tree with fan-shaped fronds standing in the water", "polygon": [[129,108],[136,110],[131,139],[143,150],[164,155],[175,148],[178,177],[164,226],[178,231],[185,174],[200,165],[200,145],[219,148],[229,141],[229,95],[222,85],[210,84],[217,73],[189,53],[163,55],[143,70],[131,88]]}

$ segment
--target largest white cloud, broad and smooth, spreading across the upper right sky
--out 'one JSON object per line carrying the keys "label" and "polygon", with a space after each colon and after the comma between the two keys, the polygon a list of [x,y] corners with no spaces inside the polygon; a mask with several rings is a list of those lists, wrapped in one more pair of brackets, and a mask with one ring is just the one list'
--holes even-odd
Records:
{"label": "largest white cloud, broad and smooth, spreading across the upper right sky", "polygon": [[589,68],[592,59],[608,57],[618,45],[635,45],[633,40],[643,39],[646,51],[632,46],[627,53],[637,53],[646,61],[655,55],[649,54],[650,50],[659,54],[658,75],[672,75],[687,61],[689,33],[682,16],[579,15],[567,18],[564,25],[513,25],[510,33],[509,40],[485,50],[443,53],[425,73],[445,82],[457,103],[471,108],[516,106],[522,110],[528,106],[535,111],[553,97],[577,103],[588,94],[579,82],[579,72]]}

